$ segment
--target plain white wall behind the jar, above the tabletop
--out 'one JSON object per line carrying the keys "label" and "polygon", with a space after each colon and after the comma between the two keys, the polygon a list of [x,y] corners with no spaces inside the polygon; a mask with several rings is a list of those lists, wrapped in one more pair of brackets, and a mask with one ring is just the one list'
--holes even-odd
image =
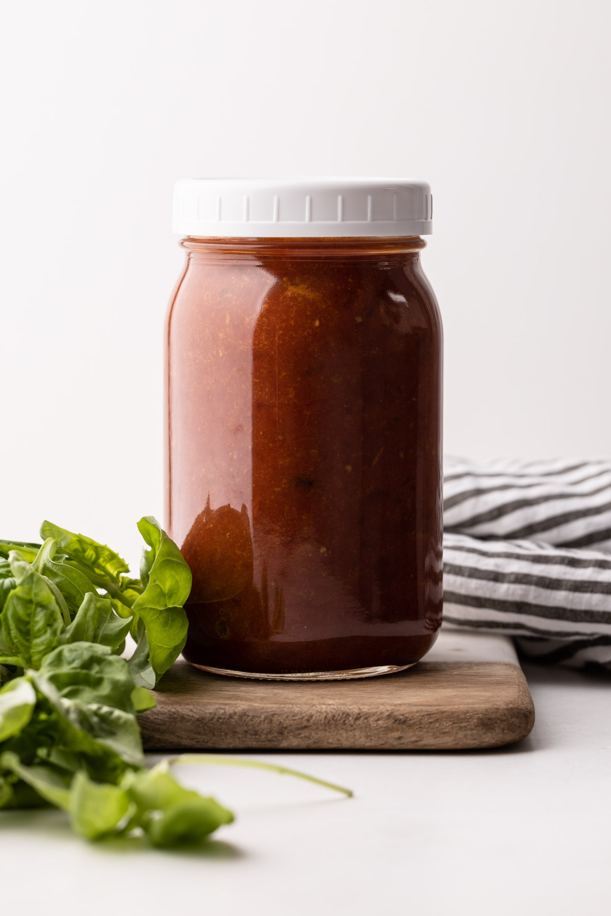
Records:
{"label": "plain white wall behind the jar, above the tabletop", "polygon": [[446,450],[609,455],[601,0],[31,0],[0,54],[0,536],[161,514],[175,180],[429,180]]}

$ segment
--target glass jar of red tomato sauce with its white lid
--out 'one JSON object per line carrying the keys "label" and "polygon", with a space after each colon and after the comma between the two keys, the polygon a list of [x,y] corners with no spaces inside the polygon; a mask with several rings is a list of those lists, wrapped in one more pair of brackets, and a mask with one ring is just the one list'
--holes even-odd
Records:
{"label": "glass jar of red tomato sauce with its white lid", "polygon": [[266,679],[413,665],[442,620],[442,324],[431,189],[184,180],[166,521],[185,658]]}

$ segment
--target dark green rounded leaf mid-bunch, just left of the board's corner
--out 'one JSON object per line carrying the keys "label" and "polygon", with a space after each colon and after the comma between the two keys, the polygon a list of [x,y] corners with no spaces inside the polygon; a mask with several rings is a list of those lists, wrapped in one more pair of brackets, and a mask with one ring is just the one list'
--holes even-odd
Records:
{"label": "dark green rounded leaf mid-bunch, just left of the board's corner", "polygon": [[134,714],[134,683],[127,662],[111,651],[110,646],[93,642],[60,646],[43,660],[37,684],[42,679],[51,683],[62,700],[102,703]]}

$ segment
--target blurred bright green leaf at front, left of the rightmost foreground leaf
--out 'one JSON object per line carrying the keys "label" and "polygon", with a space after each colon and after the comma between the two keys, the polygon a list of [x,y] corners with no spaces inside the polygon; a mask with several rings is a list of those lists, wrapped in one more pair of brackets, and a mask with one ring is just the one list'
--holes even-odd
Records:
{"label": "blurred bright green leaf at front, left of the rightmost foreground leaf", "polygon": [[115,833],[117,824],[125,820],[130,807],[136,806],[118,786],[93,782],[83,771],[72,781],[71,824],[75,833],[88,840],[99,840]]}

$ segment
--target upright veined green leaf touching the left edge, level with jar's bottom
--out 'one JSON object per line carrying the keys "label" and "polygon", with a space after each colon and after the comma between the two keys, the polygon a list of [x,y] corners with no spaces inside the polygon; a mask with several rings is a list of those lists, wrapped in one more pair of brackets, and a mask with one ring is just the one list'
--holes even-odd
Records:
{"label": "upright veined green leaf touching the left edge, level with jar's bottom", "polygon": [[[64,627],[60,607],[49,585],[27,562],[10,556],[16,587],[0,614],[0,662],[38,668],[41,660],[60,641]],[[9,660],[9,655],[16,660]]]}

